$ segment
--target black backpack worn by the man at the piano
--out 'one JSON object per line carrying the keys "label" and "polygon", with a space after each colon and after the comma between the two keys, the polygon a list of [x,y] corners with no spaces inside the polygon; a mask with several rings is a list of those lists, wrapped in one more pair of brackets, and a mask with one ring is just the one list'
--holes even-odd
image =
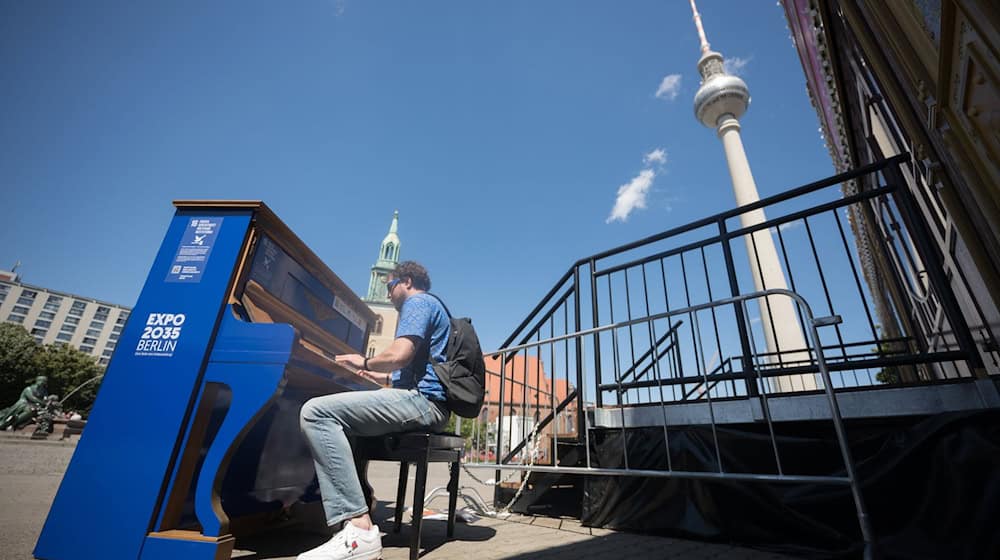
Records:
{"label": "black backpack worn by the man at the piano", "polygon": [[441,298],[428,293],[444,307],[451,321],[451,333],[445,347],[445,361],[431,363],[444,385],[448,408],[463,418],[476,418],[486,397],[486,362],[472,319],[454,318]]}

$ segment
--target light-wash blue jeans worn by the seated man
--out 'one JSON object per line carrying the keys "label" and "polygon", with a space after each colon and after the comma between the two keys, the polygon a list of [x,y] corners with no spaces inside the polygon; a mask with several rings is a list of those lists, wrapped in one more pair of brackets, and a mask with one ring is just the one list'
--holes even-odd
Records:
{"label": "light-wash blue jeans worn by the seated man", "polygon": [[312,450],[327,524],[368,513],[348,437],[436,432],[449,415],[416,389],[352,391],[306,401],[299,425]]}

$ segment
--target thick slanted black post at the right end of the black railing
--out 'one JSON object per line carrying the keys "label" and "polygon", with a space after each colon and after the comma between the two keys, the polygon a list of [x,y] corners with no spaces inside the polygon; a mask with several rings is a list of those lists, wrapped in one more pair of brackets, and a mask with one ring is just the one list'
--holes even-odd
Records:
{"label": "thick slanted black post at the right end of the black railing", "polygon": [[955,299],[951,284],[944,274],[944,263],[938,252],[939,248],[927,233],[923,216],[917,212],[913,193],[910,192],[908,185],[903,179],[903,174],[899,170],[900,165],[902,163],[899,161],[891,163],[885,167],[883,173],[885,173],[886,179],[889,182],[896,184],[893,196],[896,197],[899,211],[906,222],[907,232],[913,239],[913,244],[916,246],[917,252],[923,260],[927,276],[934,286],[934,293],[941,303],[941,308],[944,310],[945,316],[948,317],[948,324],[955,335],[958,347],[966,354],[966,360],[972,369],[973,375],[979,379],[986,379],[987,374],[983,366],[982,356],[979,355],[979,350],[976,348],[976,341],[972,338],[972,331],[969,330],[969,325],[965,321],[965,315],[962,314],[962,309],[958,306],[958,301]]}

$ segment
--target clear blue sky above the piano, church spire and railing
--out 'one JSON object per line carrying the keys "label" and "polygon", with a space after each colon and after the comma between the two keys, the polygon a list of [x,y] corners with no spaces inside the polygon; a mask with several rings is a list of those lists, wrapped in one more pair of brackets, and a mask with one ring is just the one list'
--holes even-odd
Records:
{"label": "clear blue sky above the piano, church spire and railing", "polygon": [[[761,196],[831,175],[783,10],[699,8]],[[681,0],[5,2],[0,268],[132,305],[172,200],[263,199],[363,295],[398,209],[495,348],[578,258],[734,206],[699,54]]]}

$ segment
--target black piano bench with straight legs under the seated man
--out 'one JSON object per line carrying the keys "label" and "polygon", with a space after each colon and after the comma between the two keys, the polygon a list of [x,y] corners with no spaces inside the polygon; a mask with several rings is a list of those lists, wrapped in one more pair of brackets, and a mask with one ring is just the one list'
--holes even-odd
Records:
{"label": "black piano bench with straight legs under the seated man", "polygon": [[406,479],[409,475],[410,464],[414,463],[417,466],[415,488],[413,489],[413,521],[411,524],[413,536],[410,538],[410,560],[416,560],[420,554],[420,529],[423,523],[424,494],[427,488],[427,465],[429,463],[450,463],[448,537],[454,536],[458,476],[461,470],[462,453],[465,450],[465,438],[448,433],[405,432],[358,438],[355,445],[355,455],[359,464],[367,464],[368,461],[399,462],[396,525],[393,530],[396,533],[399,532],[403,523],[403,503],[406,498]]}

